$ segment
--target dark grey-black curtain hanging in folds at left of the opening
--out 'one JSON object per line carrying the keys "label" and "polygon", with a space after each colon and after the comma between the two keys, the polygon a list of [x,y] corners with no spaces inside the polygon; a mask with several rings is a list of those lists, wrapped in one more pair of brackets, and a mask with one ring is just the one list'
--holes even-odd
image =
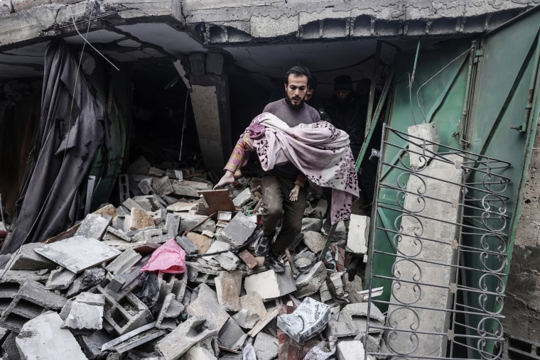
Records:
{"label": "dark grey-black curtain hanging in folds at left of the opening", "polygon": [[15,229],[1,253],[45,241],[75,223],[79,187],[107,131],[104,109],[90,92],[82,69],[77,72],[68,45],[63,40],[49,43],[39,130],[16,204]]}

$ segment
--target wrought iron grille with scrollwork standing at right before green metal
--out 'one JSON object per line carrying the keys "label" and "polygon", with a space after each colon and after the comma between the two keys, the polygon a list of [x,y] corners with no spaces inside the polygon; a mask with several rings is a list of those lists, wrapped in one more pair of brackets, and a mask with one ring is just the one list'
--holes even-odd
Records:
{"label": "wrought iron grille with scrollwork standing at right before green metal", "polygon": [[382,342],[365,358],[500,359],[510,164],[388,126],[383,139],[367,271],[386,322],[368,316]]}

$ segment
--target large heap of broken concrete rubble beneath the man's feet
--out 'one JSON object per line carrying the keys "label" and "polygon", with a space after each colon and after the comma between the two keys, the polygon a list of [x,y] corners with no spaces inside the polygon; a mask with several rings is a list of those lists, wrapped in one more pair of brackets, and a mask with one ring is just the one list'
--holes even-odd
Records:
{"label": "large heap of broken concrete rubble beneath the man's feet", "polygon": [[[139,158],[127,197],[0,256],[1,359],[364,359],[384,347],[362,291],[369,217],[330,233],[311,194],[274,273],[254,255],[260,181],[225,190]],[[191,174],[193,175],[193,173]],[[225,196],[224,196],[225,194]]]}

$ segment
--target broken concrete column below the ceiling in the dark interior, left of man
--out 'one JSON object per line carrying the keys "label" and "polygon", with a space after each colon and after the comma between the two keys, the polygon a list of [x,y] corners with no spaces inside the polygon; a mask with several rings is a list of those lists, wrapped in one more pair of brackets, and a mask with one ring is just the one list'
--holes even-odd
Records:
{"label": "broken concrete column below the ceiling in the dark interior, left of man", "polygon": [[225,58],[221,53],[195,53],[174,65],[190,91],[205,169],[220,176],[232,151]]}

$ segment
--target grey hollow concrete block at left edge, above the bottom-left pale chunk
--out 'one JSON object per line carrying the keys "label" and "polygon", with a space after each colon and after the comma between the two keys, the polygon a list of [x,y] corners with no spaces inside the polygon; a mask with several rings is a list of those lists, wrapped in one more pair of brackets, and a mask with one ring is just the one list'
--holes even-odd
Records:
{"label": "grey hollow concrete block at left edge, above the bottom-left pale chunk", "polygon": [[13,332],[18,332],[28,320],[38,317],[46,310],[62,309],[67,301],[63,296],[51,293],[41,283],[33,280],[18,286],[15,283],[3,283],[0,291],[4,304],[8,303],[10,296],[16,291],[13,300],[0,317],[0,325]]}

